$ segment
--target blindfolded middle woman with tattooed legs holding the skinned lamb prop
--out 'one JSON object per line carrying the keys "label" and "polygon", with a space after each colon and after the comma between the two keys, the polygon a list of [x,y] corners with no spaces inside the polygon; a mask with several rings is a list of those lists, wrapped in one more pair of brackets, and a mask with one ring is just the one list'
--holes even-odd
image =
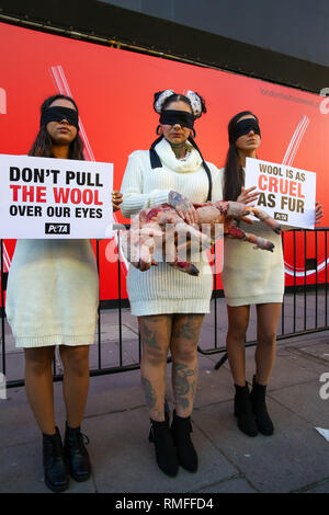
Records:
{"label": "blindfolded middle woman with tattooed legs holding the skinned lamb prop", "polygon": [[[129,156],[122,183],[122,213],[132,217],[147,207],[169,204],[193,224],[196,211],[192,202],[222,199],[222,174],[204,161],[192,138],[194,121],[205,112],[204,102],[192,91],[182,95],[166,90],[155,94],[154,108],[160,115],[160,136],[150,150]],[[138,317],[143,342],[140,374],[149,409],[150,442],[155,443],[159,468],[168,476],[175,476],[179,465],[190,472],[197,469],[190,437],[191,413],[198,335],[213,290],[208,263],[198,262],[197,266],[198,277],[163,262],[145,272],[131,266],[127,275],[132,312]],[[169,350],[175,403],[171,427],[163,409]]]}

